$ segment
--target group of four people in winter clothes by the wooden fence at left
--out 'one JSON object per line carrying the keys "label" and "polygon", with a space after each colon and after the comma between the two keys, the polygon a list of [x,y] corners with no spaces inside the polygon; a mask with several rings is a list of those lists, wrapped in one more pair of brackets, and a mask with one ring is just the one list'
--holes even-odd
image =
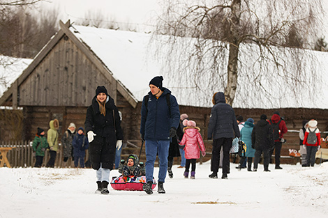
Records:
{"label": "group of four people in winter clothes by the wooden fence at left", "polygon": [[[50,158],[45,164],[46,167],[54,167],[54,163],[59,152],[59,120],[50,120],[50,129],[47,131],[47,137],[45,137],[45,131],[38,127],[36,137],[34,137],[32,148],[36,157],[36,163],[34,167],[41,167],[43,159],[45,157],[45,150],[49,150]],[[85,150],[89,148],[89,141],[84,136],[84,129],[80,127],[75,132],[75,124],[70,123],[68,129],[61,137],[61,144],[64,148],[64,166],[67,166],[68,159],[72,157],[74,160],[74,166],[84,168]]]}

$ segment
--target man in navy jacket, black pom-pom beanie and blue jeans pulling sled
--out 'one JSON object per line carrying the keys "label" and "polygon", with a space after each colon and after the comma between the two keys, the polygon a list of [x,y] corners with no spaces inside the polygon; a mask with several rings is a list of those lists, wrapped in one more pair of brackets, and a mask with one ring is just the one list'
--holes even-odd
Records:
{"label": "man in navy jacket, black pom-pom beanie and blue jeans pulling sled", "polygon": [[163,77],[154,77],[149,82],[150,92],[144,96],[141,107],[140,134],[146,141],[146,180],[144,191],[152,194],[153,173],[156,155],[159,159],[158,193],[165,193],[163,183],[167,171],[167,156],[170,140],[177,134],[180,120],[179,105],[171,91],[162,85]]}

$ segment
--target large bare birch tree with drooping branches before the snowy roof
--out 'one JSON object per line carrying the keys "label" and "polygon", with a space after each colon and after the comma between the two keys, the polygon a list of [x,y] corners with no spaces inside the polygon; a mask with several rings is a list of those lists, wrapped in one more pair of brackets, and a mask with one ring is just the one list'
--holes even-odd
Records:
{"label": "large bare birch tree with drooping branches before the snowy roof", "polygon": [[[321,0],[165,2],[156,36],[170,36],[167,63],[179,61],[179,73],[193,78],[193,86],[203,87],[200,91],[222,87],[232,104],[240,88],[247,91],[242,93],[246,103],[258,93],[274,98],[275,85],[277,92],[285,86],[296,95],[304,79],[315,78],[315,56],[306,49],[313,47],[311,39],[320,27]],[[172,51],[178,50],[184,54],[172,61]]]}

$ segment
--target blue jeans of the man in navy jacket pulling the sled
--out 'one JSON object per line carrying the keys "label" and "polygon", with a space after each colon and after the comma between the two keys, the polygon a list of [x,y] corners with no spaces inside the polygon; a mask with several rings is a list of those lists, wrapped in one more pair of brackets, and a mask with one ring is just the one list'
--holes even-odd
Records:
{"label": "blue jeans of the man in navy jacket pulling the sled", "polygon": [[154,164],[158,154],[158,182],[165,182],[167,171],[167,156],[169,155],[169,140],[146,140],[146,181],[153,181]]}

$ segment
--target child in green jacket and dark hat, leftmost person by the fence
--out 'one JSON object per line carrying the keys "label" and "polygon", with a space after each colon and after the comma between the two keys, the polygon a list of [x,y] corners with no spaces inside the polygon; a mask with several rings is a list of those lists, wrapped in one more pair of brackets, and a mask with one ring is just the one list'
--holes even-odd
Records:
{"label": "child in green jacket and dark hat, leftmost person by the fence", "polygon": [[33,153],[36,155],[36,164],[34,167],[41,167],[43,164],[43,157],[45,157],[45,149],[49,147],[45,131],[38,127],[38,132],[33,140]]}

